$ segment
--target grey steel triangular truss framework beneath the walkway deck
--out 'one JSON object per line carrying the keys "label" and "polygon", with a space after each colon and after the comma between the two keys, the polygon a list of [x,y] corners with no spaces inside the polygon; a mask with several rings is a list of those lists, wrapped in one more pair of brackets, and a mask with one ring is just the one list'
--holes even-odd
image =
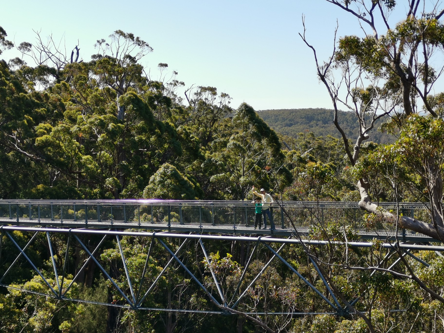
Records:
{"label": "grey steel triangular truss framework beneath the walkway deck", "polygon": [[[26,243],[26,245],[22,248],[17,244],[15,239],[12,237],[12,234],[10,234],[10,231],[12,230],[20,230],[20,231],[27,231],[27,232],[34,232],[31,239]],[[301,244],[301,241],[299,239],[289,239],[289,238],[273,238],[273,237],[243,237],[243,236],[222,236],[222,235],[211,235],[211,234],[174,234],[169,232],[162,232],[162,233],[148,233],[148,232],[135,232],[135,231],[119,231],[119,230],[85,230],[85,229],[56,229],[56,228],[31,228],[31,227],[21,227],[21,226],[2,226],[0,227],[0,231],[2,235],[6,235],[7,238],[16,246],[16,248],[20,251],[18,256],[15,258],[15,260],[12,262],[11,266],[6,270],[6,272],[3,274],[3,276],[0,278],[0,285],[3,285],[5,287],[11,288],[11,289],[19,289],[25,292],[29,293],[35,293],[42,296],[47,297],[54,297],[57,299],[63,299],[63,300],[69,300],[69,301],[82,301],[85,303],[93,303],[93,304],[100,304],[100,305],[108,305],[108,306],[116,306],[120,308],[125,309],[140,309],[140,310],[156,310],[156,311],[170,311],[170,312],[190,312],[190,313],[198,313],[199,311],[189,310],[189,309],[157,309],[157,308],[149,308],[144,307],[144,302],[146,303],[147,296],[156,288],[158,285],[159,279],[165,274],[165,272],[168,270],[170,265],[173,262],[177,262],[179,266],[181,266],[186,274],[188,274],[191,277],[191,280],[194,281],[200,289],[206,294],[207,297],[211,299],[211,301],[217,305],[218,307],[224,308],[224,307],[230,307],[231,309],[235,309],[237,306],[239,306],[242,299],[245,298],[246,294],[248,293],[249,289],[254,287],[254,284],[256,281],[266,272],[267,268],[272,264],[275,258],[278,258],[286,267],[289,268],[294,274],[296,274],[304,283],[311,288],[317,295],[319,295],[323,301],[325,301],[333,310],[334,312],[327,312],[325,314],[338,314],[338,313],[344,313],[344,309],[341,306],[340,302],[337,300],[337,297],[334,295],[332,289],[330,288],[327,280],[322,275],[320,268],[317,266],[317,263],[309,257],[311,263],[313,264],[313,267],[317,270],[317,274],[319,275],[319,278],[322,280],[322,282],[325,285],[326,288],[326,294],[321,293],[312,283],[310,283],[305,277],[303,277],[292,265],[289,264],[279,253],[281,250],[285,247],[287,244]],[[46,238],[48,241],[48,248],[51,256],[51,261],[53,270],[54,270],[54,282],[50,283],[41,273],[40,270],[37,269],[37,267],[32,263],[32,260],[25,254],[25,251],[28,249],[28,247],[35,241],[37,235],[39,232],[44,232],[46,234]],[[60,263],[60,267],[57,267],[56,259],[54,253],[55,251],[55,242],[52,242],[51,235],[52,234],[67,234],[67,244],[66,249],[63,246],[63,250],[65,251],[64,254],[64,261],[63,261],[63,270],[62,270],[62,264]],[[99,241],[98,245],[95,246],[94,250],[91,252],[88,250],[87,246],[82,242],[82,240],[79,238],[80,235],[101,235],[103,238]],[[111,276],[108,274],[107,270],[99,263],[99,261],[95,258],[95,255],[97,255],[97,252],[99,248],[103,245],[105,239],[107,236],[113,236],[115,237],[115,246],[119,250],[120,258],[122,259],[122,265],[123,265],[123,273],[122,278],[124,281],[125,289],[123,287],[119,287],[121,285],[122,281],[114,280],[111,278]],[[143,267],[143,273],[140,277],[140,282],[137,286],[137,289],[135,289],[135,284],[133,283],[131,278],[134,279],[134,277],[131,277],[130,271],[127,267],[127,258],[125,258],[123,247],[121,244],[121,237],[122,236],[134,236],[134,237],[150,237],[151,242],[149,245],[149,249],[147,251],[147,258],[145,260],[145,264]],[[167,242],[164,242],[164,238],[171,238],[171,239],[183,239],[182,243],[178,246],[177,250],[173,252],[170,247],[167,245]],[[54,237],[52,238],[54,240]],[[5,238],[6,240],[6,238]],[[0,237],[0,257],[1,257],[1,249],[4,247],[4,241],[3,238]],[[74,244],[72,244],[72,240],[74,240],[74,243],[78,243],[79,246],[85,251],[87,254],[87,260],[83,263],[80,270],[75,274],[75,277],[70,281],[69,285],[64,288],[64,282],[65,277],[67,274],[68,269],[68,263],[69,263],[69,250],[70,246],[72,247]],[[208,286],[205,285],[205,282],[199,280],[198,277],[195,276],[191,272],[191,270],[184,264],[183,259],[181,260],[179,258],[179,254],[181,250],[184,248],[184,246],[187,244],[188,241],[194,240],[195,242],[198,242],[200,247],[202,248],[203,255],[205,257],[206,262],[210,266],[210,274],[212,277],[212,280],[214,281],[215,287],[213,290],[209,290]],[[211,258],[208,256],[207,249],[204,245],[204,240],[225,240],[225,241],[242,241],[242,242],[253,242],[254,247],[251,250],[251,253],[249,255],[249,258],[246,262],[245,268],[242,270],[242,275],[240,277],[240,280],[238,281],[238,285],[233,293],[233,295],[227,295],[224,293],[224,290],[222,288],[222,285],[220,283],[220,279],[218,278],[217,274],[214,272],[213,269],[211,269]],[[147,286],[147,270],[149,266],[150,258],[152,258],[152,253],[155,249],[156,242],[158,242],[169,254],[170,259],[166,263],[166,266],[163,267],[162,271],[155,277],[153,281],[150,281],[150,286],[148,289],[145,289]],[[315,245],[315,246],[322,246],[327,243],[335,243],[340,245],[345,245],[341,242],[321,242],[321,241],[302,241],[306,245]],[[247,270],[250,267],[251,262],[253,261],[254,255],[258,253],[259,248],[262,246],[265,247],[268,254],[271,255],[269,257],[270,259],[266,262],[266,264],[262,267],[260,272],[256,274],[254,277],[252,277],[251,280],[248,281],[248,286],[243,289],[241,292],[240,288],[242,283],[245,281]],[[271,244],[279,244],[280,247],[277,250],[274,250],[274,248],[271,246]],[[366,243],[366,242],[354,242],[354,243],[348,243],[349,246],[362,246],[362,247],[370,247],[372,246],[372,243]],[[383,247],[391,249],[386,255],[385,258],[379,263],[379,265],[382,265],[384,262],[387,261],[387,259],[390,258],[390,256],[395,253],[395,246],[392,243],[385,243],[383,244]],[[429,266],[427,262],[424,262],[424,260],[418,258],[414,254],[412,254],[411,250],[432,250],[432,251],[444,251],[444,246],[422,246],[422,245],[415,245],[415,244],[406,244],[401,243],[399,244],[399,248],[404,251],[403,256],[408,255],[418,262],[421,262],[425,266]],[[71,248],[72,250],[72,248]],[[62,250],[59,250],[58,252],[62,252]],[[439,252],[438,252],[439,253]],[[268,255],[267,254],[267,255]],[[24,290],[13,286],[8,286],[2,284],[2,281],[4,280],[4,277],[9,274],[13,268],[13,266],[16,265],[16,263],[20,260],[20,258],[24,258],[31,266],[32,269],[35,270],[43,282],[48,286],[49,291],[48,293],[39,293],[39,292],[33,292],[30,290]],[[182,258],[182,257],[181,257]],[[72,299],[68,297],[67,293],[71,289],[72,285],[75,283],[75,281],[78,279],[79,275],[82,274],[88,263],[92,261],[95,262],[95,265],[98,267],[98,269],[102,272],[103,276],[106,277],[107,280],[111,282],[111,285],[117,290],[117,292],[123,297],[126,304],[107,304],[107,303],[101,303],[101,302],[94,302],[94,301],[83,301],[78,299]],[[398,262],[396,260],[392,266],[390,266],[389,269],[394,267]],[[379,266],[378,265],[378,266]],[[63,272],[61,274],[61,277],[59,276],[59,272]],[[374,272],[372,272],[373,274]],[[125,281],[126,280],[126,281]],[[51,280],[50,280],[51,281]],[[212,284],[212,282],[211,282]],[[57,290],[56,290],[57,288]],[[112,287],[111,287],[112,288]],[[143,293],[143,290],[147,290]],[[217,292],[216,292],[217,290]],[[213,294],[211,293],[213,291],[214,293],[218,293],[218,296],[220,296],[221,301],[218,301]],[[142,297],[140,297],[143,295]],[[330,297],[331,296],[331,297]],[[236,298],[237,297],[237,298]],[[229,301],[230,300],[230,301]],[[235,300],[235,301],[234,301]],[[353,305],[356,303],[358,299],[354,300],[351,304]],[[200,311],[202,313],[225,313],[225,311]],[[251,313],[251,314],[261,314],[261,313]],[[263,313],[267,315],[279,315],[279,314],[291,314],[291,313]],[[296,313],[297,315],[298,313]],[[310,313],[310,314],[320,314],[320,313]]]}

